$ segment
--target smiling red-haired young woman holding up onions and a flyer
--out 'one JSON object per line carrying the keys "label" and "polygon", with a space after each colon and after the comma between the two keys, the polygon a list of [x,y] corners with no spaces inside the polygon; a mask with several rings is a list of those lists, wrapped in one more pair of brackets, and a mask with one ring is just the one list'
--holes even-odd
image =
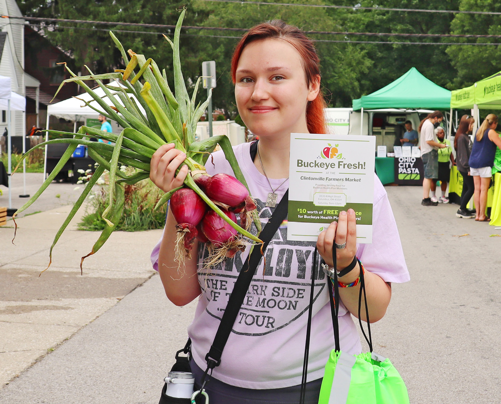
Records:
{"label": "smiling red-haired young woman holding up onions and a flyer", "polygon": [[[320,61],[313,42],[296,27],[282,21],[260,24],[250,29],[237,44],[231,63],[238,112],[259,141],[233,147],[236,159],[257,199],[263,225],[275,210],[266,206],[269,193],[278,201],[288,189],[291,133],[327,133],[325,102],[321,94]],[[172,145],[160,147],[151,161],[151,179],[164,191],[182,184],[187,169],[177,176],[175,169],[184,155]],[[232,174],[222,152],[213,154],[207,172]],[[317,403],[324,366],[334,348],[334,333],[324,272],[313,267],[315,246],[328,265],[333,265],[336,243],[338,270],[346,268],[356,255],[365,266],[370,320],[383,317],[391,297],[390,282],[409,279],[400,239],[383,186],[376,178],[373,211],[373,244],[357,244],[355,212],[340,213],[320,233],[317,243],[287,240],[287,221],[272,238],[265,251],[247,296],[238,313],[232,333],[205,389],[210,402],[293,403],[299,401],[309,283],[315,286],[312,312],[306,402]],[[273,205],[273,204],[272,204]],[[191,369],[195,387],[205,369],[208,352],[233,283],[248,255],[248,248],[205,273],[202,259],[205,246],[198,245],[198,256],[186,261],[186,273],[179,278],[174,262],[175,221],[169,213],[162,239],[152,253],[168,298],[184,305],[197,298],[195,318],[188,328],[192,341]],[[254,229],[254,231],[256,231]],[[316,245],[315,245],[316,244]],[[317,258],[319,263],[320,257]],[[340,278],[354,283],[360,276],[355,267]],[[196,276],[197,275],[197,276]],[[329,283],[331,285],[331,283]],[[361,344],[353,315],[358,315],[359,286],[343,287],[339,308],[341,348],[360,353]],[[365,312],[363,319],[365,320]]]}

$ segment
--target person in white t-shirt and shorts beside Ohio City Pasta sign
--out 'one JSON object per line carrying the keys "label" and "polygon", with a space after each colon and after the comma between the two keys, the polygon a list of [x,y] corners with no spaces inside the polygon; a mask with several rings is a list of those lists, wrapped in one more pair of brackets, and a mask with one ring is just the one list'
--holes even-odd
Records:
{"label": "person in white t-shirt and shorts beside Ohio City Pasta sign", "polygon": [[436,206],[438,202],[432,202],[430,198],[431,182],[438,178],[438,149],[447,147],[438,143],[435,135],[435,125],[442,122],[443,115],[440,111],[434,111],[421,121],[418,131],[420,132],[421,159],[424,165],[423,179],[423,206]]}

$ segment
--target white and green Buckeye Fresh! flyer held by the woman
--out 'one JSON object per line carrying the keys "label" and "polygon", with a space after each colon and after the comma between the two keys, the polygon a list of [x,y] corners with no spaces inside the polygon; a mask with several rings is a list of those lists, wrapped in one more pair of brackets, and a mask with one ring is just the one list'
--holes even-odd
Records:
{"label": "white and green Buckeye Fresh! flyer held by the woman", "polygon": [[357,243],[372,242],[375,137],[291,133],[287,239],[317,241],[353,209]]}

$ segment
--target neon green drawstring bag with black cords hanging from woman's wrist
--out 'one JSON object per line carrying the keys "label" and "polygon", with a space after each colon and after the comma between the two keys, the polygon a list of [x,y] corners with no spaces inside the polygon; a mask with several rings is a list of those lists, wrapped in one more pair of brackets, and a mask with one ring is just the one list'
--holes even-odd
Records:
{"label": "neon green drawstring bag with black cords hanging from woman's wrist", "polygon": [[[370,323],[367,321],[368,336],[362,326],[360,311],[362,291],[364,292],[365,313],[369,320],[363,270],[360,273],[360,293],[358,298],[358,318],[360,328],[369,345],[369,352],[350,355],[339,347],[339,285],[336,273],[336,255],[333,254],[334,279],[328,276],[334,337],[336,348],[331,351],[320,389],[319,404],[409,404],[407,387],[397,369],[385,358],[372,350]],[[362,265],[359,261],[360,268]],[[328,275],[332,275],[328,273]],[[313,277],[313,276],[312,276]],[[334,293],[333,293],[334,289]],[[308,339],[308,338],[307,338]],[[305,379],[306,381],[306,379]]]}

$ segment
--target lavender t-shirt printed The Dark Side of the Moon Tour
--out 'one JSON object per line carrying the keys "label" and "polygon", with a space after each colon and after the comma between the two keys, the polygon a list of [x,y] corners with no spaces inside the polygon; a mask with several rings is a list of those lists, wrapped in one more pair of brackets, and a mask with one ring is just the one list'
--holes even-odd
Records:
{"label": "lavender t-shirt printed The Dark Side of the Moon Tour", "polygon": [[[274,210],[265,207],[263,202],[271,189],[266,177],[256,169],[250,158],[249,148],[250,143],[243,143],[233,147],[233,151],[250,193],[257,199],[264,226]],[[209,174],[233,175],[222,152],[216,152],[213,156],[214,165],[210,159],[206,163]],[[270,179],[270,182],[275,188],[283,180]],[[288,185],[286,181],[276,191],[279,200]],[[151,254],[153,267],[157,270],[159,248],[160,242]],[[266,267],[263,267],[261,260],[250,284],[224,347],[221,364],[214,368],[215,378],[234,386],[254,389],[301,384],[314,249],[314,242],[288,241],[287,221],[282,223],[266,249]],[[200,368],[206,367],[204,357],[212,344],[248,250],[247,247],[243,253],[226,259],[210,271],[204,271],[202,259],[206,250],[200,248],[198,281],[202,294],[193,322],[188,327],[193,359]],[[357,256],[366,270],[378,274],[386,282],[409,280],[395,219],[386,191],[376,176],[373,243],[358,244]],[[317,268],[313,271],[316,282],[308,365],[310,381],[323,376],[329,353],[334,348],[329,292],[325,274],[319,267],[317,259]],[[351,354],[360,353],[361,344],[355,323],[342,303],[339,326],[341,349]]]}

